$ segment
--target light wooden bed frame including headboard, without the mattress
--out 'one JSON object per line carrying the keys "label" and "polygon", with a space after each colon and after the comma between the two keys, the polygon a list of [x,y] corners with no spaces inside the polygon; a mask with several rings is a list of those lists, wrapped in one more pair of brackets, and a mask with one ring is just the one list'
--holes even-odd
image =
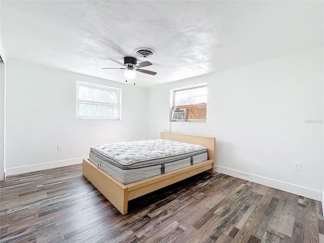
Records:
{"label": "light wooden bed frame including headboard, without the mattress", "polygon": [[191,135],[160,133],[161,139],[203,145],[207,148],[208,160],[176,171],[154,176],[131,184],[123,184],[108,173],[83,159],[82,174],[112,203],[122,214],[127,214],[128,201],[149,192],[171,185],[204,171],[215,172],[215,138]]}

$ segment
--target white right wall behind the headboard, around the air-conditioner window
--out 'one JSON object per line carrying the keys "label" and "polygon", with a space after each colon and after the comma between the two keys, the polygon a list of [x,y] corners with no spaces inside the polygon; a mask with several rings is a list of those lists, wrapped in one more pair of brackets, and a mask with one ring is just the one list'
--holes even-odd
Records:
{"label": "white right wall behind the headboard, around the air-conditioner window", "polygon": [[152,88],[148,138],[169,131],[170,89],[206,82],[207,124],[172,132],[216,137],[219,172],[320,200],[323,124],[305,120],[323,119],[323,49]]}

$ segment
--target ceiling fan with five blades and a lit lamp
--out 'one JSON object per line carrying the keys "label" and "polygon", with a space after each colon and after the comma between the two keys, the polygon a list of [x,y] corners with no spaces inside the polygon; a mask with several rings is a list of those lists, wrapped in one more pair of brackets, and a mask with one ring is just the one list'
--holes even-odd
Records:
{"label": "ceiling fan with five blades and a lit lamp", "polygon": [[[156,72],[140,69],[140,67],[146,67],[152,65],[149,61],[140,62],[137,63],[137,59],[134,57],[124,57],[124,63],[121,63],[115,59],[107,57],[108,60],[113,61],[115,63],[118,63],[119,65],[123,67],[103,67],[102,69],[124,69],[125,70],[125,77],[126,78],[135,78],[136,72],[139,74],[149,74],[149,75],[155,75]],[[127,82],[127,80],[126,80]]]}

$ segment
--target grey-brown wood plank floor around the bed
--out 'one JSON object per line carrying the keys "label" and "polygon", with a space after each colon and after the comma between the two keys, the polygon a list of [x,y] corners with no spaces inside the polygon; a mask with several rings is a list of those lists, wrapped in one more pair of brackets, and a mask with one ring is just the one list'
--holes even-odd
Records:
{"label": "grey-brown wood plank floor around the bed", "polygon": [[1,182],[1,242],[324,242],[321,204],[216,173],[134,199],[121,215],[81,165]]}

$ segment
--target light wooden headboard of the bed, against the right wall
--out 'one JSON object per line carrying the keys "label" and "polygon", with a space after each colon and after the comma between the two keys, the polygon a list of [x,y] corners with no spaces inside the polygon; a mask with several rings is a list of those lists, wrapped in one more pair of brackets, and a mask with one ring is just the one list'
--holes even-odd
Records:
{"label": "light wooden headboard of the bed, against the right wall", "polygon": [[202,145],[207,148],[208,159],[215,160],[215,138],[164,132],[160,133],[160,138]]}

